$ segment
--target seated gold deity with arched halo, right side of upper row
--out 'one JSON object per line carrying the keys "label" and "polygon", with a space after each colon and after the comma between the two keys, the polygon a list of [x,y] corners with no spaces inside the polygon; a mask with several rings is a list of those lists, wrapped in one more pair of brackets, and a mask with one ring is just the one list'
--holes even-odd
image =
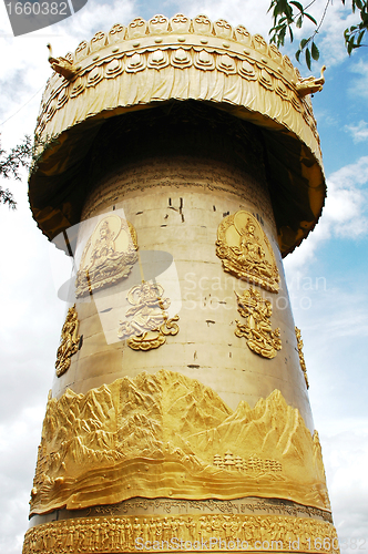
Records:
{"label": "seated gold deity with arched halo, right side of upper row", "polygon": [[278,293],[275,256],[257,219],[243,209],[225,217],[217,229],[216,255],[225,271]]}

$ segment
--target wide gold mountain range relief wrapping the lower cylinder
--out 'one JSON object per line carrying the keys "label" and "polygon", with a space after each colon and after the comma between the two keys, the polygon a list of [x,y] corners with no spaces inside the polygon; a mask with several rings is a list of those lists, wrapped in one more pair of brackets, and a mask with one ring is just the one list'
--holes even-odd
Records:
{"label": "wide gold mountain range relief wrapping the lower cylinder", "polygon": [[[264,463],[228,471],[213,464],[219,452],[256,452]],[[31,496],[31,514],[134,496],[280,497],[329,509],[318,435],[278,390],[232,411],[211,388],[166,370],[50,398]]]}

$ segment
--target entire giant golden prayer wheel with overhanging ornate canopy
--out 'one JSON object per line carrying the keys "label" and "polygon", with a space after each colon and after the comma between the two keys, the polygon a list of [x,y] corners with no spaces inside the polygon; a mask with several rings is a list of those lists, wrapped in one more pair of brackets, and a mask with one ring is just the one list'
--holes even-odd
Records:
{"label": "entire giant golden prayer wheel with overhanging ornate canopy", "polygon": [[50,63],[29,195],[75,275],[23,553],[337,551],[282,264],[324,204],[323,78],[205,16]]}

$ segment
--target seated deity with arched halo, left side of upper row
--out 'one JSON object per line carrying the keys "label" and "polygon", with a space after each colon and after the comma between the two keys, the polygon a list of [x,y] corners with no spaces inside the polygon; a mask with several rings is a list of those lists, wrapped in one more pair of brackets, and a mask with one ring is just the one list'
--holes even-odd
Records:
{"label": "seated deity with arched halo, left side of upper row", "polygon": [[84,247],[75,296],[85,296],[126,278],[137,260],[136,250],[136,233],[131,223],[117,215],[101,219]]}

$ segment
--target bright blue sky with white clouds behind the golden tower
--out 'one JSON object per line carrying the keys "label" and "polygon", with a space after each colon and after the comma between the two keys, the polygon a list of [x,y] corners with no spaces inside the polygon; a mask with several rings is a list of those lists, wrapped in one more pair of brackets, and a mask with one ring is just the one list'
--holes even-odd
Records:
{"label": "bright blue sky with white clouds behind the golden tower", "polygon": [[[316,2],[316,14],[323,10]],[[89,0],[72,18],[13,38],[0,4],[0,132],[11,147],[31,134],[50,76],[45,44],[62,55],[115,22],[142,16],[206,13],[267,38],[267,0]],[[320,223],[285,260],[296,325],[301,329],[310,401],[323,445],[341,552],[368,553],[368,51],[349,59],[343,30],[354,23],[339,0],[319,35],[326,84],[314,110],[328,198]],[[287,48],[286,53],[293,57]],[[300,68],[304,76],[309,72]],[[3,123],[2,123],[3,122]],[[65,315],[55,280],[69,263],[31,218],[25,176],[10,183],[17,212],[0,207],[0,552],[20,554],[28,501],[55,351]]]}

